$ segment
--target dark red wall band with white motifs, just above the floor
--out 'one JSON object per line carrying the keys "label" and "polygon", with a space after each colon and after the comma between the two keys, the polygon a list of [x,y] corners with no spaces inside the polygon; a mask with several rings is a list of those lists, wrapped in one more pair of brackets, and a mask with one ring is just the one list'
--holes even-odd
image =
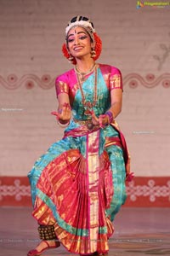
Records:
{"label": "dark red wall band with white motifs, just above the floor", "polygon": [[[31,206],[27,177],[0,177],[0,206]],[[134,177],[124,207],[170,207],[170,177]]]}

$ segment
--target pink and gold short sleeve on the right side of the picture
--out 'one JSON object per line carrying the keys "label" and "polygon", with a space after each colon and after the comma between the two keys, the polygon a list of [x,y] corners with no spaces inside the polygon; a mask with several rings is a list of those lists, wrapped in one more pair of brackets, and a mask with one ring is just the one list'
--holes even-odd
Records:
{"label": "pink and gold short sleeve on the right side of the picture", "polygon": [[110,89],[122,89],[122,73],[116,67],[111,67]]}

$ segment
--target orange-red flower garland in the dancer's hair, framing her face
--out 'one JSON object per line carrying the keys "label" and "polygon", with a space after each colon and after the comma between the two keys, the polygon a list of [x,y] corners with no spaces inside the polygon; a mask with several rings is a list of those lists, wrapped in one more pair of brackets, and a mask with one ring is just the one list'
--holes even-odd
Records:
{"label": "orange-red flower garland in the dancer's hair, framing her face", "polygon": [[[99,38],[99,36],[96,32],[94,32],[94,42],[95,42],[94,50],[96,52],[96,55],[93,58],[94,58],[94,61],[96,61],[99,58],[99,55],[101,54],[101,50],[102,50],[102,41],[101,41],[101,39]],[[62,45],[62,52],[63,52],[63,55],[65,56],[66,59],[69,60],[71,58],[71,55],[68,52],[66,44]],[[71,63],[73,65],[77,64],[77,61],[74,57],[72,58]]]}

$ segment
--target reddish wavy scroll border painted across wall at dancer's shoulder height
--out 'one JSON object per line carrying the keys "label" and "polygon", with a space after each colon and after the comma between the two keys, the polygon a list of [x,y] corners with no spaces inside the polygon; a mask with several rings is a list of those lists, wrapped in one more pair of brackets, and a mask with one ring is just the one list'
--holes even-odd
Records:
{"label": "reddish wavy scroll border painted across wall at dancer's shoulder height", "polygon": [[[52,79],[49,74],[42,75],[39,78],[36,74],[25,74],[21,78],[18,78],[15,74],[9,74],[7,78],[0,76],[0,85],[8,90],[18,89],[20,86],[25,86],[27,90],[33,89],[36,85],[44,90],[54,87],[55,78]],[[157,85],[162,85],[164,88],[170,87],[170,73],[162,73],[156,78],[153,73],[148,73],[145,77],[139,73],[129,73],[123,77],[123,85],[128,85],[130,88],[135,89],[139,85],[143,85],[146,88],[154,88]]]}

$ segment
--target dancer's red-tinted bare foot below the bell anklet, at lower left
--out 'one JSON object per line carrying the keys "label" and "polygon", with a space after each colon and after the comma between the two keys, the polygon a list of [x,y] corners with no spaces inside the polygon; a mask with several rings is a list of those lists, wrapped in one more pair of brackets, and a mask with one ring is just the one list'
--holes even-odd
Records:
{"label": "dancer's red-tinted bare foot below the bell anklet, at lower left", "polygon": [[35,249],[29,251],[27,256],[38,256],[41,255],[45,250],[59,247],[59,241],[54,240],[42,240]]}

